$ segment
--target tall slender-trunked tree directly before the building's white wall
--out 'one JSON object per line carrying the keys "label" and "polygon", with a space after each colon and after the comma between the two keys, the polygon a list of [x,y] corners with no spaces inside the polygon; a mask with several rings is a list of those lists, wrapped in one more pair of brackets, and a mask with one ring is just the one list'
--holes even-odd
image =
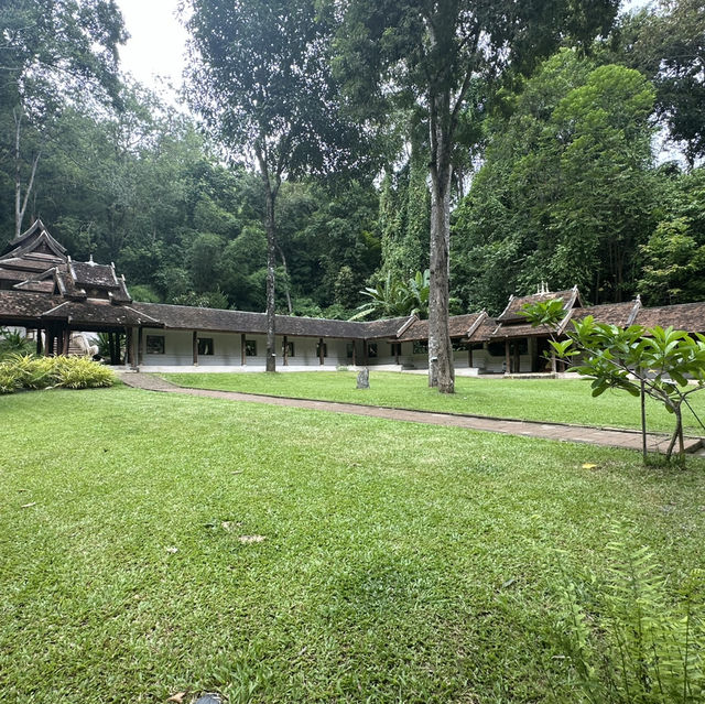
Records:
{"label": "tall slender-trunked tree directly before the building's white wall", "polygon": [[257,164],[265,195],[267,370],[275,369],[275,204],[282,180],[349,162],[351,123],[338,119],[315,0],[187,0],[189,97],[232,154]]}

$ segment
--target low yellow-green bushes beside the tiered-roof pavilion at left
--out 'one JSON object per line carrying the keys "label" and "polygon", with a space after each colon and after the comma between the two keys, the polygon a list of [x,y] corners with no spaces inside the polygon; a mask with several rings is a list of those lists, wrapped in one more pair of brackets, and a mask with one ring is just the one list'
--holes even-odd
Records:
{"label": "low yellow-green bushes beside the tiered-roof pavilion at left", "polygon": [[85,357],[12,355],[0,364],[0,393],[17,389],[110,387],[112,371]]}

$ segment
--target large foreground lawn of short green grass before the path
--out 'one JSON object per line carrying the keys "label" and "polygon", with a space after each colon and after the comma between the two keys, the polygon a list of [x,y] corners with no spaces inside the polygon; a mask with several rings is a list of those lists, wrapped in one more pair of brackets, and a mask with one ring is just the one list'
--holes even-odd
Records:
{"label": "large foreground lawn of short green grass before the path", "polygon": [[615,524],[673,593],[705,556],[701,461],[124,387],[0,404],[8,702],[574,702],[560,571],[603,574]]}

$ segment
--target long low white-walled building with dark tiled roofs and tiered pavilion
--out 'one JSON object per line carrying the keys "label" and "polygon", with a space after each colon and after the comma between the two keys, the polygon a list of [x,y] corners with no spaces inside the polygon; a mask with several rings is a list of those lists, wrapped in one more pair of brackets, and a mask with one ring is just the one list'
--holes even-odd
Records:
{"label": "long low white-walled building with dark tiled roofs and tiered pavilion", "polygon": [[[452,316],[456,368],[466,373],[546,370],[549,331],[531,327],[521,310],[551,299],[561,299],[566,310],[558,334],[586,315],[618,326],[705,332],[705,303],[644,308],[637,299],[585,306],[577,288],[544,288],[512,296],[496,318],[485,311]],[[134,302],[113,264],[73,261],[41,220],[0,252],[0,326],[24,328],[35,338],[37,354],[47,355],[68,354],[75,333],[106,333],[112,364],[145,370],[259,370],[265,365],[263,313]],[[278,315],[275,329],[279,367],[427,367],[429,325],[416,316],[364,323]]]}

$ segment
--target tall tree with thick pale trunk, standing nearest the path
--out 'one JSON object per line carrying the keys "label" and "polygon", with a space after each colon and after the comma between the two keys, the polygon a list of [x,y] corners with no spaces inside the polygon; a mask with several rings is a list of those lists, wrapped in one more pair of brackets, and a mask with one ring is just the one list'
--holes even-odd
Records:
{"label": "tall tree with thick pale trunk, standing nearest the path", "polygon": [[360,115],[381,120],[390,97],[424,116],[430,142],[429,383],[454,391],[448,333],[451,184],[458,127],[475,82],[490,85],[609,28],[617,0],[332,0],[343,19],[338,68]]}

